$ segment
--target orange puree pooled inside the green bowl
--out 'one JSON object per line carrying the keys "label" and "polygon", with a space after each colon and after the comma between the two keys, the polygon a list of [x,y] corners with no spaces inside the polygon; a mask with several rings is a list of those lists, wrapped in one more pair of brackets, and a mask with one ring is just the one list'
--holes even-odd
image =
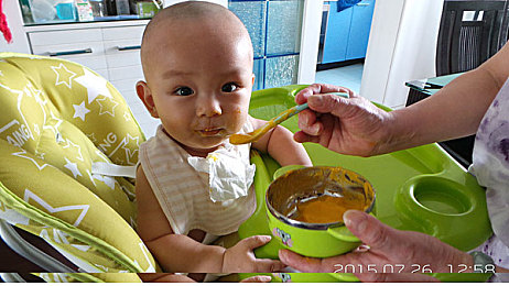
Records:
{"label": "orange puree pooled inside the green bowl", "polygon": [[350,195],[349,197],[321,196],[297,202],[297,216],[292,218],[308,223],[343,222],[343,213],[349,209],[364,210],[365,197]]}

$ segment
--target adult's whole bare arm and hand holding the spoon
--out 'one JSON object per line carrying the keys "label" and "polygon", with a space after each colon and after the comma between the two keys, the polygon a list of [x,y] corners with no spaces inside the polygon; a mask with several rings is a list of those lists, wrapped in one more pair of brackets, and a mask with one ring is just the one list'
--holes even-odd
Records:
{"label": "adult's whole bare arm and hand holding the spoon", "polygon": [[[478,68],[465,73],[434,96],[386,112],[366,98],[332,85],[315,84],[295,101],[308,102],[294,138],[350,155],[371,156],[469,135],[509,77],[509,44]],[[343,91],[345,99],[327,92]]]}

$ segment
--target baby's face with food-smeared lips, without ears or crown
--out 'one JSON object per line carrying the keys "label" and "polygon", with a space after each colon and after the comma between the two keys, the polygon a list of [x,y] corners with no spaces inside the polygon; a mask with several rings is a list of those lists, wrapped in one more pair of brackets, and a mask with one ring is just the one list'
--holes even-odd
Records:
{"label": "baby's face with food-smeared lips, without ears or crown", "polygon": [[167,31],[172,41],[158,41],[148,85],[165,131],[187,152],[206,154],[246,123],[252,54],[249,42],[192,25]]}

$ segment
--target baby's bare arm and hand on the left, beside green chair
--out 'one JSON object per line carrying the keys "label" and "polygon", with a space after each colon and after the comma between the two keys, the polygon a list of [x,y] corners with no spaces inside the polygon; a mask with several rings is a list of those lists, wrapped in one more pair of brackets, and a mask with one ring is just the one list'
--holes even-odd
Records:
{"label": "baby's bare arm and hand on the left, beside green chair", "polygon": [[270,237],[251,237],[227,250],[174,234],[141,166],[137,170],[136,191],[138,233],[164,272],[271,272],[284,267],[279,261],[257,260],[252,253],[253,249],[268,243]]}

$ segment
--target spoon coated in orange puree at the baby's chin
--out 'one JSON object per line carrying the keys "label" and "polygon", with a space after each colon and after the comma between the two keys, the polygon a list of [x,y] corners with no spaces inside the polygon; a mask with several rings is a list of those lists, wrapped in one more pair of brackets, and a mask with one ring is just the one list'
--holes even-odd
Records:
{"label": "spoon coated in orange puree at the baby's chin", "polygon": [[[340,97],[348,98],[348,94],[345,92],[331,92],[331,95],[337,95]],[[266,134],[269,130],[275,128],[279,123],[283,122],[284,120],[297,114],[302,110],[307,108],[307,102],[300,106],[294,106],[291,109],[288,109],[275,118],[268,121],[263,127],[249,132],[248,134],[232,134],[229,139],[230,143],[234,145],[247,144],[251,142],[256,142],[259,140],[263,134]]]}

